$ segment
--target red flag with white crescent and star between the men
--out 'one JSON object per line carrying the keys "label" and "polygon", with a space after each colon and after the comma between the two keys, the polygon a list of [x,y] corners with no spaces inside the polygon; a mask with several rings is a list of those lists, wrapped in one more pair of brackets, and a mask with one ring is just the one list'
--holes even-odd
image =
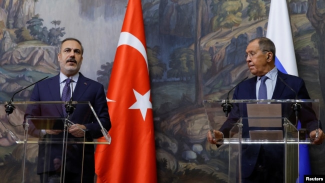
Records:
{"label": "red flag with white crescent and star between the men", "polygon": [[107,91],[111,144],[97,145],[98,182],[157,182],[141,0],[129,0]]}

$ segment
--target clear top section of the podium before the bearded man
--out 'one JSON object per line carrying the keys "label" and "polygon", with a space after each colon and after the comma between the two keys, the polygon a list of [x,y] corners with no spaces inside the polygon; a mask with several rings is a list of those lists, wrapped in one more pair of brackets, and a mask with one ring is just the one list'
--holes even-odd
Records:
{"label": "clear top section of the podium before the bearded man", "polygon": [[[69,108],[66,116],[62,116],[62,106]],[[46,130],[58,130],[63,134],[73,124],[86,126],[86,129],[82,129],[84,138],[66,132],[65,140],[69,142],[111,142],[105,129],[107,120],[98,117],[89,101],[0,101],[0,107],[0,125],[7,131],[7,138],[11,142],[61,142],[63,135],[48,135]]]}

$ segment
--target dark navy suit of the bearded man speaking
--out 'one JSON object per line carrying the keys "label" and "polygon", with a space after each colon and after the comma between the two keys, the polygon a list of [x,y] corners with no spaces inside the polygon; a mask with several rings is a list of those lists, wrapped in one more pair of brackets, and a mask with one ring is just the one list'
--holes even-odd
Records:
{"label": "dark navy suit of the bearded man speaking", "polygon": [[[79,73],[79,78],[72,93],[73,101],[89,101],[97,114],[103,127],[108,131],[111,127],[110,118],[108,115],[107,101],[103,89],[103,85],[84,77]],[[60,101],[60,86],[59,74],[40,81],[35,84],[30,96],[30,101]],[[98,138],[102,136],[101,127],[90,110],[88,105],[76,104],[75,110],[70,115],[69,119],[73,123],[79,123],[86,126],[86,136],[89,138]],[[25,116],[50,116],[63,117],[61,104],[54,105],[30,105],[27,107]],[[39,130],[34,128],[33,124],[28,127],[28,133],[33,136],[38,136]],[[58,135],[46,134],[44,138],[53,139],[61,138],[62,133]],[[69,134],[68,138],[75,138]],[[66,170],[69,172],[80,173],[82,162],[82,145],[69,144],[66,155]],[[38,166],[37,173],[53,171],[52,159],[55,156],[62,154],[61,144],[45,145],[39,143],[38,149]],[[94,175],[94,146],[85,145],[84,147],[84,176]]]}

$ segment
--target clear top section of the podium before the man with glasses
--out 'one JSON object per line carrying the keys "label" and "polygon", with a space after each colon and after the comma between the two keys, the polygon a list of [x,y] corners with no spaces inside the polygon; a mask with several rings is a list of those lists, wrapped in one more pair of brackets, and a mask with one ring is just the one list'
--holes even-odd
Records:
{"label": "clear top section of the podium before the man with glasses", "polygon": [[222,129],[220,144],[310,143],[309,132],[320,125],[318,99],[206,99],[203,104],[209,128]]}

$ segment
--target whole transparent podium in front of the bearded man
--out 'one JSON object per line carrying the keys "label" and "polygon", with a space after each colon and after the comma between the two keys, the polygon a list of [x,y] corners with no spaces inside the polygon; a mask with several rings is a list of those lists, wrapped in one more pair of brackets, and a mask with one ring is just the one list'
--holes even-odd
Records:
{"label": "whole transparent podium in front of the bearded man", "polygon": [[[5,107],[5,112],[0,111],[1,116],[5,116],[1,123],[16,142],[12,154],[17,159],[15,163],[21,164],[15,172],[20,177],[19,182],[67,182],[66,178],[75,176],[82,182],[84,173],[93,171],[95,145],[111,142],[89,101],[11,101],[0,104]],[[66,117],[59,114],[62,105],[73,109]],[[91,129],[79,128],[78,137],[68,132],[73,124],[89,122]],[[14,128],[13,123],[17,124]]]}

